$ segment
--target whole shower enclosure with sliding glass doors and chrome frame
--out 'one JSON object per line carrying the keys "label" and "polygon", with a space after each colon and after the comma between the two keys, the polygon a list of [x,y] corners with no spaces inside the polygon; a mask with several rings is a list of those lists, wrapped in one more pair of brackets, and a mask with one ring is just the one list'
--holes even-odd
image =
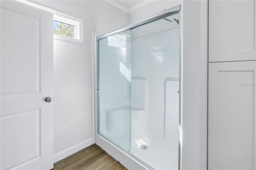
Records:
{"label": "whole shower enclosure with sliding glass doors and chrome frame", "polygon": [[179,12],[97,37],[98,134],[150,169],[179,169]]}

